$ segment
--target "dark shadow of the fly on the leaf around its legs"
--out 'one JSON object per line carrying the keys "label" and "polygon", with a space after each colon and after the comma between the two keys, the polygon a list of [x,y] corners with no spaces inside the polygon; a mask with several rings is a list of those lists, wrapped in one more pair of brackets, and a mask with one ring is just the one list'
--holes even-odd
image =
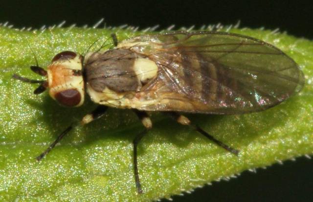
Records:
{"label": "dark shadow of the fly on the leaf around its legs", "polygon": [[[27,105],[43,112],[39,118],[43,121],[43,124],[48,126],[48,135],[51,135],[51,139],[55,139],[65,127],[75,121],[81,120],[87,112],[95,108],[95,105],[91,101],[87,101],[79,110],[73,110],[60,106],[48,96],[43,97],[43,102],[38,102],[33,99],[28,99],[25,102]],[[151,132],[148,133],[147,138],[143,139],[144,143],[138,145],[139,155],[145,154],[144,148],[147,147],[150,141],[168,141],[175,146],[184,148],[188,147],[197,137],[201,137],[201,134],[194,132],[188,126],[181,126],[162,112],[151,112],[151,115],[154,127]],[[222,115],[186,115],[192,117],[192,119],[200,125],[209,122],[212,126],[218,124],[220,119],[223,118]],[[79,130],[79,133],[75,133],[75,130],[70,132],[58,146],[75,144],[76,147],[84,148],[85,145],[93,144],[99,139],[104,140],[107,138],[116,139],[116,141],[123,139],[132,144],[132,140],[134,136],[138,134],[138,131],[144,130],[144,127],[137,119],[138,118],[131,110],[110,108],[104,117],[86,126],[78,127],[76,130]],[[35,121],[37,120],[31,122]],[[78,138],[76,136],[77,134],[83,136]],[[152,134],[154,134],[153,137]],[[220,135],[216,136],[220,137]],[[79,143],[75,142],[77,139],[79,139]],[[50,141],[51,140],[48,140],[48,142]],[[207,140],[207,144],[208,147],[213,145],[209,140]],[[34,157],[37,155],[38,154],[34,153]]]}

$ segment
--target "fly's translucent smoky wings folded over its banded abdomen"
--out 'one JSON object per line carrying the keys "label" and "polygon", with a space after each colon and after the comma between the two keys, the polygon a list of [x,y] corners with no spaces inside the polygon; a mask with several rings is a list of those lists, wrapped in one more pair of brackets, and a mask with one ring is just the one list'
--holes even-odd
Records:
{"label": "fly's translucent smoky wings folded over its banded abdomen", "polygon": [[148,55],[158,76],[140,92],[158,100],[140,109],[246,113],[273,107],[298,92],[298,65],[263,41],[224,32],[141,35],[132,50]]}

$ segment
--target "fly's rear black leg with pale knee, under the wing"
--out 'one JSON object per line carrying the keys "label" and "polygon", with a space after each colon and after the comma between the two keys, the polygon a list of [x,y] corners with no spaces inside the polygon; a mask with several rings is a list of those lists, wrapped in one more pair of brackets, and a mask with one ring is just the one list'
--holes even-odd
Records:
{"label": "fly's rear black leg with pale knee, under the wing", "polygon": [[234,149],[234,148],[224,144],[220,140],[215,139],[215,137],[213,137],[212,135],[210,135],[207,132],[203,131],[199,126],[197,126],[195,124],[192,124],[191,121],[186,116],[183,116],[183,115],[181,115],[181,114],[179,114],[177,112],[165,112],[165,113],[169,114],[178,123],[180,123],[182,125],[190,126],[193,130],[198,131],[199,133],[201,133],[202,135],[207,137],[209,140],[211,140],[212,142],[214,142],[218,146],[220,146],[220,147],[224,148],[225,150],[227,150],[228,152],[238,156],[239,150],[236,150],[236,149]]}

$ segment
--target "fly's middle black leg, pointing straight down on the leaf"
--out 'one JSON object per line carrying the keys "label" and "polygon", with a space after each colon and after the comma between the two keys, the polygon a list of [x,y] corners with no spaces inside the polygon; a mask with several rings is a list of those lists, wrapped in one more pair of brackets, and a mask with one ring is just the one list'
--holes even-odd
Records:
{"label": "fly's middle black leg, pointing straight down on the leaf", "polygon": [[136,183],[136,188],[138,194],[142,193],[141,189],[141,184],[139,180],[139,174],[138,174],[138,161],[137,161],[137,146],[139,141],[142,139],[142,137],[148,132],[149,129],[152,128],[152,121],[147,114],[147,112],[144,111],[138,111],[138,110],[133,110],[138,118],[141,120],[143,126],[146,128],[143,132],[140,134],[136,135],[134,140],[133,140],[133,145],[134,145],[134,176],[135,176],[135,183]]}

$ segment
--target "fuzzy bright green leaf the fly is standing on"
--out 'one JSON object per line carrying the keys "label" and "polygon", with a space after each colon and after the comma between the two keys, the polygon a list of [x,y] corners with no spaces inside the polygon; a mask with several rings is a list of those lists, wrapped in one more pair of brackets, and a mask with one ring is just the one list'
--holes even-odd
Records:
{"label": "fuzzy bright green leaf the fly is standing on", "polygon": [[127,29],[53,28],[19,31],[0,27],[0,201],[152,201],[213,180],[313,153],[313,42],[266,30],[231,29],[264,40],[301,67],[306,84],[297,95],[263,112],[241,115],[190,114],[205,131],[240,150],[236,157],[186,126],[153,113],[154,128],[142,139],[138,167],[143,194],[136,193],[132,140],[143,126],[133,112],[110,109],[70,132],[42,161],[43,152],[71,122],[95,108],[59,106],[37,84],[13,80],[17,73],[42,79],[29,66],[46,67],[64,50],[96,50]]}

